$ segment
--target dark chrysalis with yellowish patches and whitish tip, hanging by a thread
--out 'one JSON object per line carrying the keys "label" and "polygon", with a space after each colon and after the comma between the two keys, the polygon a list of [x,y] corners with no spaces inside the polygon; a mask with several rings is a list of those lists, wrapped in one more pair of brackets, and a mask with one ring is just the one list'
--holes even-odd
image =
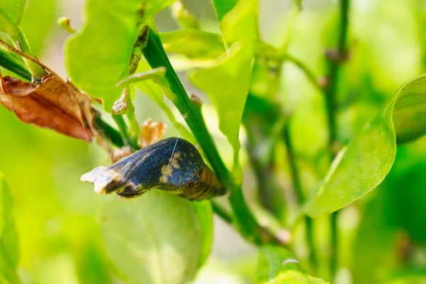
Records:
{"label": "dark chrysalis with yellowish patches and whitish tip, hanging by a thread", "polygon": [[116,192],[138,197],[153,188],[173,192],[187,200],[224,195],[225,189],[204,163],[195,146],[182,138],[167,138],[82,175],[98,193]]}

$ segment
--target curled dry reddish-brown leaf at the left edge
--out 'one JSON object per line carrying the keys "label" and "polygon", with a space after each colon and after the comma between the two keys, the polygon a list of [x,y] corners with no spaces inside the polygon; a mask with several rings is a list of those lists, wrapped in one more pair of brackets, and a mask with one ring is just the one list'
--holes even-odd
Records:
{"label": "curled dry reddish-brown leaf at the left edge", "polygon": [[93,127],[92,100],[71,82],[55,73],[33,85],[13,77],[1,77],[0,102],[18,119],[84,141],[99,138]]}

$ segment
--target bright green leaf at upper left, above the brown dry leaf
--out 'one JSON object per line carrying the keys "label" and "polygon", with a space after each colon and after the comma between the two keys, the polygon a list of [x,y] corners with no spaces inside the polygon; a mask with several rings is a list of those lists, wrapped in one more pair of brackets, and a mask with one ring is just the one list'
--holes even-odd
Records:
{"label": "bright green leaf at upper left, above the brown dry leaf", "polygon": [[104,109],[121,96],[116,83],[129,75],[133,45],[140,23],[173,0],[89,0],[82,31],[65,43],[65,65],[72,82],[92,97],[102,99]]}

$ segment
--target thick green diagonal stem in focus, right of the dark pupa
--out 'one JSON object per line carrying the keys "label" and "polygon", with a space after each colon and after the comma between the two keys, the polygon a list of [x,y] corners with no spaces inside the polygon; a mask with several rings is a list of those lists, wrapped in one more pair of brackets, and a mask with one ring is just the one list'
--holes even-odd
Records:
{"label": "thick green diagonal stem in focus, right of the dark pupa", "polygon": [[217,174],[219,180],[222,182],[222,185],[229,188],[231,191],[231,194],[229,195],[229,202],[234,211],[234,222],[236,224],[236,228],[239,229],[240,234],[244,236],[245,239],[253,241],[256,244],[260,244],[268,238],[274,239],[272,235],[265,236],[264,234],[261,234],[262,228],[256,222],[256,219],[254,219],[249,207],[247,207],[241,186],[234,183],[231,173],[229,173],[228,169],[224,165],[222,158],[214,145],[213,139],[210,136],[207,127],[203,123],[200,111],[198,111],[192,104],[190,97],[188,97],[178,75],[175,70],[173,70],[170,61],[165,54],[160,37],[151,28],[149,30],[148,43],[146,48],[143,49],[143,55],[152,68],[162,66],[167,68],[167,71],[165,72],[165,79],[168,81],[171,91],[176,95],[175,99],[173,99],[173,104],[175,104],[175,107],[185,118],[187,125],[197,141],[200,143],[207,160],[209,160],[210,165],[212,165],[212,168]]}

